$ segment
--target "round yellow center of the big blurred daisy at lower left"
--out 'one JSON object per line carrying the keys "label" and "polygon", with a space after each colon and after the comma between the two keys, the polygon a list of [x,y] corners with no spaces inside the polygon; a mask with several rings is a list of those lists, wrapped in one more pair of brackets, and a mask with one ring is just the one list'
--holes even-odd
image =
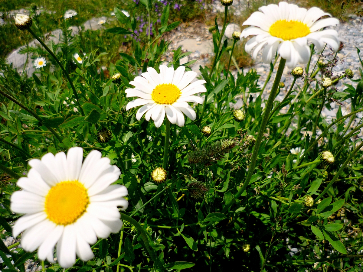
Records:
{"label": "round yellow center of the big blurred daisy at lower left", "polygon": [[46,195],[45,213],[50,221],[66,226],[81,217],[88,203],[87,190],[80,182],[62,181]]}

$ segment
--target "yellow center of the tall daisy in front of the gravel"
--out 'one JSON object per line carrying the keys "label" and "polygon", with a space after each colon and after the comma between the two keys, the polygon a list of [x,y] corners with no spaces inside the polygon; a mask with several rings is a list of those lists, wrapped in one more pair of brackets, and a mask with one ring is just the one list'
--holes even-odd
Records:
{"label": "yellow center of the tall daisy in front of the gravel", "polygon": [[270,34],[284,41],[305,37],[310,28],[299,21],[278,20],[270,26]]}

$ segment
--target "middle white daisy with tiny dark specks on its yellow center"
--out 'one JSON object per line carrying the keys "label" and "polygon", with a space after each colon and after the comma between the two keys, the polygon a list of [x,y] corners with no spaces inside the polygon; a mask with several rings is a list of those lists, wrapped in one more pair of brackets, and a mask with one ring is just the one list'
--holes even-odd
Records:
{"label": "middle white daisy with tiny dark specks on its yellow center", "polygon": [[206,92],[204,80],[197,80],[189,83],[197,76],[194,71],[185,72],[184,66],[179,66],[174,71],[173,67],[160,65],[160,74],[152,67],[148,67],[142,77],[135,77],[130,84],[135,88],[126,89],[126,97],[138,96],[126,105],[126,110],[142,106],[136,113],[136,119],[140,120],[145,114],[147,121],[154,120],[158,128],[164,121],[166,114],[170,123],[177,124],[179,127],[184,125],[184,115],[195,120],[197,115],[187,102],[202,104],[204,98],[196,96],[199,92]]}

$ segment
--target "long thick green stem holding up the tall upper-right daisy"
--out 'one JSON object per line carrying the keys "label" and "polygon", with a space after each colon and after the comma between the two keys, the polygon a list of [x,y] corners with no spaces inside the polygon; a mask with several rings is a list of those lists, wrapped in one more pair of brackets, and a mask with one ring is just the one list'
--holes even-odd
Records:
{"label": "long thick green stem holding up the tall upper-right daisy", "polygon": [[254,149],[253,149],[253,153],[252,153],[252,159],[251,159],[251,163],[250,163],[250,166],[249,166],[248,174],[247,174],[246,180],[244,181],[243,186],[234,195],[235,199],[240,197],[240,195],[246,190],[246,187],[249,185],[251,177],[252,177],[252,175],[254,173],[254,166],[256,165],[257,155],[258,155],[258,152],[260,151],[260,145],[261,145],[262,137],[264,136],[265,128],[266,128],[267,122],[269,120],[270,111],[271,111],[271,108],[273,106],[273,102],[275,100],[278,85],[280,83],[282,73],[284,72],[285,63],[286,63],[286,60],[281,58],[280,59],[280,64],[278,65],[276,78],[275,78],[275,81],[274,81],[274,83],[272,85],[272,90],[270,92],[269,99],[268,99],[268,101],[266,103],[264,115],[262,116],[262,123],[260,125],[260,129],[258,130],[256,144],[254,145]]}

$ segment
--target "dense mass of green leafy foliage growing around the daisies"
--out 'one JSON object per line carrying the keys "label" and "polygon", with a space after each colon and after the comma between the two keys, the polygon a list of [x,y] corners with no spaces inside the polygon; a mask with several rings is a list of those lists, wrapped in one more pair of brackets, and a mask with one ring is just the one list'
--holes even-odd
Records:
{"label": "dense mass of green leafy foliage growing around the daisies", "polygon": [[[150,7],[146,0],[141,3],[138,9]],[[360,271],[363,153],[357,135],[363,126],[362,70],[352,79],[340,75],[344,90],[334,85],[324,88],[321,79],[334,71],[337,52],[325,59],[325,68],[309,62],[306,77],[287,86],[291,91],[282,102],[274,102],[256,167],[249,169],[254,147],[250,136],[256,137],[262,123],[268,95],[260,94],[267,90],[258,85],[260,76],[254,70],[242,70],[234,77],[223,63],[213,71],[200,67],[207,82],[206,103],[193,106],[195,121],[186,119],[184,127],[171,125],[168,176],[158,184],[151,180],[151,172],[163,164],[166,126],[156,128],[152,121],[136,120],[137,108],[125,110],[132,100],[125,90],[147,67],[159,71],[168,49],[161,34],[179,24],[168,22],[169,12],[166,6],[154,34],[150,39],[142,37],[146,42],[128,40],[131,53],[120,53],[120,59],[110,62],[109,75],[99,65],[107,53],[83,47],[87,42],[70,36],[65,27],[64,40],[50,47],[69,72],[76,93],[42,48],[32,50],[46,56],[48,64],[31,78],[0,63],[4,74],[0,77],[1,238],[12,236],[11,225],[19,218],[10,210],[9,199],[19,190],[17,178],[29,169],[27,161],[79,146],[85,153],[101,151],[121,169],[116,183],[127,187],[129,207],[121,213],[122,230],[93,245],[95,258],[78,260],[65,271],[226,271],[233,267],[238,271],[310,271],[313,267]],[[115,13],[119,26],[102,34],[103,44],[110,42],[108,37],[131,34],[139,24],[132,15],[128,18],[118,9]],[[96,38],[92,35],[97,34],[90,33],[90,40]],[[218,48],[220,40],[216,22],[217,63],[227,48],[223,41]],[[82,64],[73,63],[72,55],[80,51],[87,58]],[[311,52],[319,54],[313,46]],[[117,55],[117,51],[109,53]],[[176,69],[188,53],[181,53],[181,48],[173,53],[169,65]],[[191,63],[185,64],[186,69]],[[116,73],[122,75],[119,84],[110,79]],[[243,102],[242,121],[233,118],[231,109],[238,97]],[[342,115],[343,102],[351,102],[351,114]],[[339,110],[328,123],[321,112],[331,103]],[[211,127],[210,136],[201,132],[205,125]],[[112,133],[107,142],[97,136],[105,129]],[[291,154],[296,147],[305,152]],[[319,157],[322,151],[333,153],[333,164]],[[254,174],[242,191],[248,171]],[[27,259],[37,260],[36,252],[11,248],[0,240],[1,271],[24,272]],[[58,264],[45,264],[48,272],[63,271]]]}

